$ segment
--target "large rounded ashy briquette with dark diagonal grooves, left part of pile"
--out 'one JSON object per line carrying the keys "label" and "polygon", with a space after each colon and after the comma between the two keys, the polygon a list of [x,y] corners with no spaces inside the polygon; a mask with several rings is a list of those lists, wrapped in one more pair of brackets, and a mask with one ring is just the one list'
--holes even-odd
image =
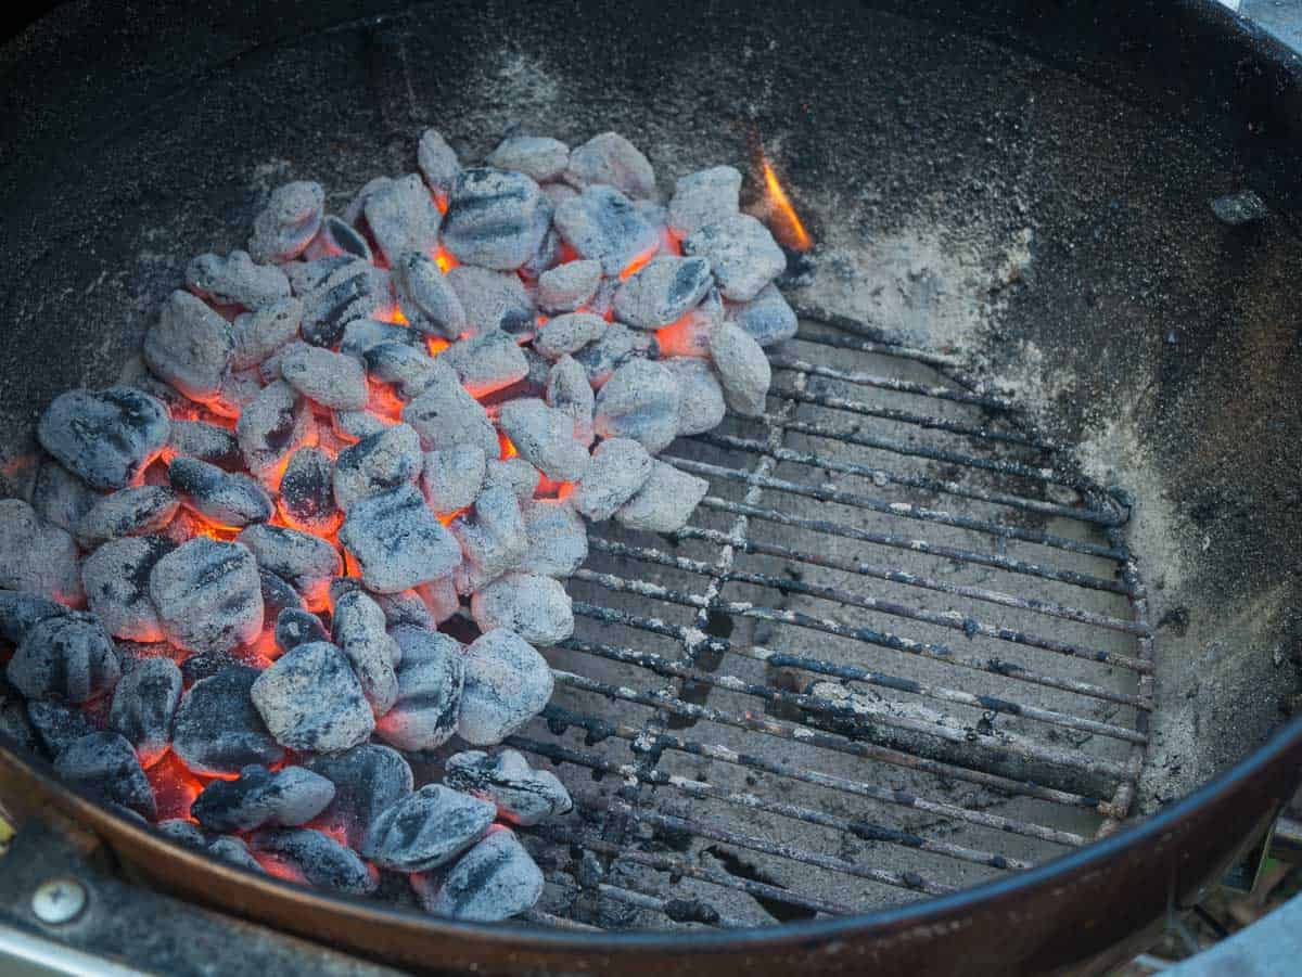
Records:
{"label": "large rounded ashy briquette with dark diagonal grooves, left part of pile", "polygon": [[150,597],[172,644],[223,652],[262,631],[258,563],[234,542],[198,536],[154,565]]}

